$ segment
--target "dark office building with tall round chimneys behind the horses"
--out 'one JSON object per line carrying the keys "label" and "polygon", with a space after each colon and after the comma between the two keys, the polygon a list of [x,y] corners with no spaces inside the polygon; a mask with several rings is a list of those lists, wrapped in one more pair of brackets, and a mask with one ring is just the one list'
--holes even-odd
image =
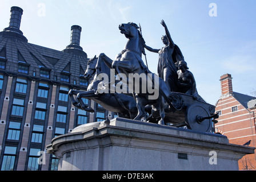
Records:
{"label": "dark office building with tall round chimneys behind the horses", "polygon": [[57,51],[28,42],[19,29],[22,13],[11,7],[9,27],[0,32],[0,169],[57,170],[58,159],[45,153],[51,139],[114,113],[84,100],[96,111],[88,113],[68,98],[70,89],[87,89],[82,28],[72,26],[70,44]]}

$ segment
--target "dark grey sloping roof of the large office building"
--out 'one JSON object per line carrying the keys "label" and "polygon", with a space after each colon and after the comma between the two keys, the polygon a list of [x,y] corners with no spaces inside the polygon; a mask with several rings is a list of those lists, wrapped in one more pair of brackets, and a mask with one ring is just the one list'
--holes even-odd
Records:
{"label": "dark grey sloping roof of the large office building", "polygon": [[58,51],[55,49],[38,46],[27,43],[25,41],[0,36],[0,51],[6,50],[6,72],[18,72],[19,61],[30,65],[29,76],[35,71],[39,76],[39,69],[45,67],[49,69],[50,80],[54,80],[54,76],[58,77],[63,71],[69,71],[71,74],[70,81],[81,76],[81,70],[85,71],[87,67],[87,55],[81,50],[72,51],[65,49]]}

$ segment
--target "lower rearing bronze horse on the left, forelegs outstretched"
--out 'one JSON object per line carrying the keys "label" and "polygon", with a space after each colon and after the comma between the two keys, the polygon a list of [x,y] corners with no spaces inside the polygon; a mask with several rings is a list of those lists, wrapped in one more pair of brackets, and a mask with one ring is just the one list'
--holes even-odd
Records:
{"label": "lower rearing bronze horse on the left, forelegs outstretched", "polygon": [[[99,93],[98,84],[101,80],[97,79],[97,74],[106,73],[110,76],[110,69],[102,61],[101,64],[97,64],[97,57],[90,59],[87,64],[85,72],[85,78],[89,80],[94,76],[93,80],[87,87],[87,91],[82,90],[70,90],[69,97],[72,104],[79,109],[94,112],[94,110],[87,106],[82,98],[93,100],[104,107],[106,110],[113,111],[118,114],[119,117],[133,119],[136,117],[138,111],[135,100],[132,96],[122,93]],[[96,64],[98,65],[96,67]],[[76,96],[76,98],[74,98]]]}

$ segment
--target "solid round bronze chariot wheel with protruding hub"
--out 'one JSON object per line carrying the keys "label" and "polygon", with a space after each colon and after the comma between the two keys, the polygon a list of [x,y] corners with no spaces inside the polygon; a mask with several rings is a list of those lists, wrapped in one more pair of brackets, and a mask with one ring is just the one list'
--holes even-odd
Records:
{"label": "solid round bronze chariot wheel with protruding hub", "polygon": [[209,132],[211,130],[212,116],[208,107],[201,104],[193,104],[187,107],[185,121],[187,127],[194,131]]}

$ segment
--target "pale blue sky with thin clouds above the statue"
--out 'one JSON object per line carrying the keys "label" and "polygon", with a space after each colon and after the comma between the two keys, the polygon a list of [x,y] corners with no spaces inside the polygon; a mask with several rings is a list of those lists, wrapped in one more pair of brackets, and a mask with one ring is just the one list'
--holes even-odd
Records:
{"label": "pale blue sky with thin clouds above the statue", "polygon": [[[217,16],[209,15],[210,3],[217,5]],[[119,24],[140,23],[146,44],[161,48],[163,19],[207,102],[218,101],[219,78],[226,73],[234,92],[256,90],[255,0],[0,0],[0,31],[9,26],[11,6],[23,9],[21,31],[29,43],[62,51],[78,24],[88,57],[103,52],[111,59],[127,41]],[[158,54],[146,53],[149,69],[157,73]]]}

